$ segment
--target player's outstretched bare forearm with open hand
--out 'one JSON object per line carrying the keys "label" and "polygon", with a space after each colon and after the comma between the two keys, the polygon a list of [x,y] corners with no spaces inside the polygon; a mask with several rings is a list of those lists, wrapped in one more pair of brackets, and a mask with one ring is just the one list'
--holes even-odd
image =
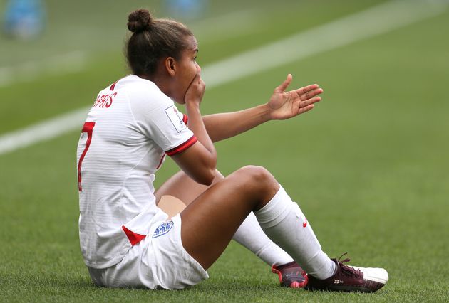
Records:
{"label": "player's outstretched bare forearm with open hand", "polygon": [[321,100],[319,95],[323,90],[314,84],[286,92],[291,80],[292,76],[287,75],[264,105],[204,116],[202,119],[212,142],[237,136],[269,120],[289,119],[313,109],[314,103]]}

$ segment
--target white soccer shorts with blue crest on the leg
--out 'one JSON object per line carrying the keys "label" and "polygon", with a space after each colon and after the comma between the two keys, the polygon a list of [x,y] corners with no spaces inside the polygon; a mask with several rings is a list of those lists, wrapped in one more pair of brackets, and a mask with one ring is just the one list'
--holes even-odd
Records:
{"label": "white soccer shorts with blue crest on the leg", "polygon": [[209,277],[182,247],[179,214],[154,223],[118,264],[88,270],[93,282],[104,287],[183,289]]}

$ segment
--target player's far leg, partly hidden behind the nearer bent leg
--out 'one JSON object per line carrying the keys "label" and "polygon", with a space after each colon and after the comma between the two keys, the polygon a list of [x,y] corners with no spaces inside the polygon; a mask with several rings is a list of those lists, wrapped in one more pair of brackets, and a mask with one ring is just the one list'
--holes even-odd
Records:
{"label": "player's far leg, partly hidden behind the nearer bent leg", "polygon": [[[217,176],[213,184],[222,179],[224,179],[224,176],[220,171],[217,171]],[[177,201],[171,203],[174,199],[180,199],[180,201],[188,205],[209,187],[198,184],[183,171],[179,171],[156,191],[157,201],[161,201],[158,203],[158,206],[166,213],[173,213],[176,209],[180,209]],[[160,200],[161,196],[164,198]],[[175,198],[167,198],[169,196]],[[239,244],[252,251],[254,255],[257,255],[261,260],[270,265],[272,272],[278,275],[279,282],[282,286],[300,288],[306,285],[306,272],[294,262],[287,252],[284,252],[282,248],[279,248],[279,246],[265,235],[254,213],[249,213],[249,216],[239,226],[232,239],[236,240]]]}

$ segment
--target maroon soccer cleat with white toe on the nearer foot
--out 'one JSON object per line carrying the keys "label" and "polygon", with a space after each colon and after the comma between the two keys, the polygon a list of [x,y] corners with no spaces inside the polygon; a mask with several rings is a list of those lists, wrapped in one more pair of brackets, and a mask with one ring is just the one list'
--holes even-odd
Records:
{"label": "maroon soccer cleat with white toe on the nearer foot", "polygon": [[345,259],[340,262],[341,257],[339,260],[331,259],[336,264],[336,273],[333,276],[325,280],[309,276],[309,282],[305,289],[336,292],[376,292],[383,285],[386,285],[388,272],[383,268],[344,265],[343,262],[349,262],[350,260]]}

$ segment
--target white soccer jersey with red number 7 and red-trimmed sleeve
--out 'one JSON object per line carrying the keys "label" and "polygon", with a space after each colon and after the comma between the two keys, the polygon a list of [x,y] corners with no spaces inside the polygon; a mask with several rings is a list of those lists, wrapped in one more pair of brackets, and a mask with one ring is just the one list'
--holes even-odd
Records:
{"label": "white soccer jersey with red number 7 and red-trimmed sleeve", "polygon": [[167,215],[153,181],[165,154],[197,142],[187,117],[149,80],[128,75],[102,90],[78,142],[80,243],[86,265],[115,265]]}

